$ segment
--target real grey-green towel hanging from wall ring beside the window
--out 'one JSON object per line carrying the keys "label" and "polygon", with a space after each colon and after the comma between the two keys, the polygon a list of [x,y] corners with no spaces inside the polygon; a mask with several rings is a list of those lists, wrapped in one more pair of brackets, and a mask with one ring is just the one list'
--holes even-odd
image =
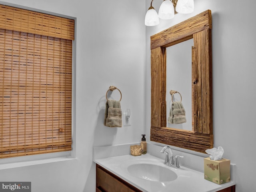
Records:
{"label": "real grey-green towel hanging from wall ring beside the window", "polygon": [[104,125],[108,127],[122,127],[122,110],[120,101],[106,102]]}

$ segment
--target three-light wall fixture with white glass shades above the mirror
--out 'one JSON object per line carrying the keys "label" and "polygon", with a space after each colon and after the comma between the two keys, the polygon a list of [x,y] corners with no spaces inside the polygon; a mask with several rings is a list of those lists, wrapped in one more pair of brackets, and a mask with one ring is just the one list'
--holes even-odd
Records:
{"label": "three-light wall fixture with white glass shades above the mirror", "polygon": [[[159,24],[159,18],[161,19],[172,19],[175,13],[188,14],[194,11],[194,0],[164,0],[160,5],[158,14],[152,2],[145,16],[146,26],[156,26]],[[174,10],[175,8],[175,10]]]}

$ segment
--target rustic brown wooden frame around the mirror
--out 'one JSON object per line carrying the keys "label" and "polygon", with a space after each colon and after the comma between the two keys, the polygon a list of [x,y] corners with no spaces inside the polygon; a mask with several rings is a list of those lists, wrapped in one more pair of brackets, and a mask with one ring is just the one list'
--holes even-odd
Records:
{"label": "rustic brown wooden frame around the mirror", "polygon": [[[150,140],[205,153],[213,147],[212,16],[206,10],[150,37]],[[192,131],[166,127],[166,48],[193,38]]]}

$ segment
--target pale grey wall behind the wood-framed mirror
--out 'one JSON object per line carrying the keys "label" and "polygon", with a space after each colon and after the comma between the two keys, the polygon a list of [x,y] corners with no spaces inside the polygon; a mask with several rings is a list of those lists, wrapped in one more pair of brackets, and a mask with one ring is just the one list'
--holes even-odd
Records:
{"label": "pale grey wall behind the wood-framed mirror", "polygon": [[[162,1],[154,1],[158,11]],[[146,134],[150,134],[150,36],[200,12],[212,11],[214,146],[237,167],[236,192],[253,192],[256,154],[256,2],[194,0],[192,14],[146,27]],[[146,9],[150,1],[146,1]],[[188,79],[188,81],[191,81]],[[183,96],[182,96],[183,97]]]}

